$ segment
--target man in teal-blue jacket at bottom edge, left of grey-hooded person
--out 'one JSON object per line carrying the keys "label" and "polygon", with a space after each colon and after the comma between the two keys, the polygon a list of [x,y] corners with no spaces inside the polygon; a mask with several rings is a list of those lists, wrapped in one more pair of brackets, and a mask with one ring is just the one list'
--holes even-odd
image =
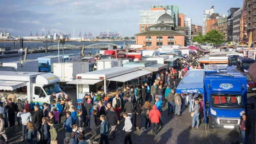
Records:
{"label": "man in teal-blue jacket at bottom edge, left of grey-hooded person", "polygon": [[103,140],[104,140],[105,144],[109,144],[109,140],[107,139],[107,136],[109,135],[109,123],[106,120],[106,116],[103,114],[100,116],[100,120],[101,120],[100,144],[103,143]]}

